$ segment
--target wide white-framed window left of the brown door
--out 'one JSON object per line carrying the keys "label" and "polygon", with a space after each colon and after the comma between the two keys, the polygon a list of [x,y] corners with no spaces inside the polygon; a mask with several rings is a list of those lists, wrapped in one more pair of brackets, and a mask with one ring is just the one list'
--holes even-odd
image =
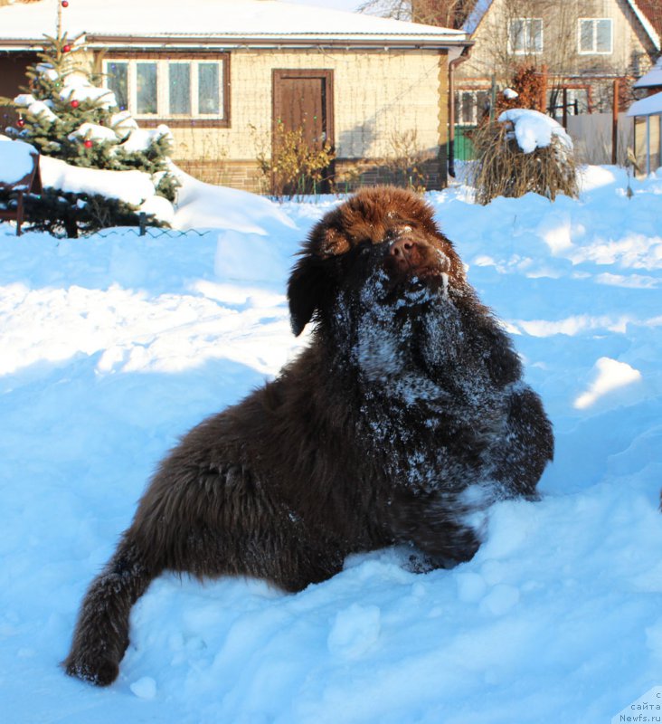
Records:
{"label": "wide white-framed window left of the brown door", "polygon": [[104,62],[118,106],[142,121],[170,125],[228,125],[228,57],[205,54],[182,58],[156,54]]}

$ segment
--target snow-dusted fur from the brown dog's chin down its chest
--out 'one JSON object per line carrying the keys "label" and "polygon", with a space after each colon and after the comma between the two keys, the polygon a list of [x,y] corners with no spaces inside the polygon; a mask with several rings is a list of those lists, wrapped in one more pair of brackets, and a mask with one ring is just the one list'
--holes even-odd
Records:
{"label": "snow-dusted fur from the brown dog's chin down its chest", "polygon": [[[438,284],[412,277],[394,286],[377,268],[359,291],[341,292],[336,304],[363,394],[365,433],[385,453],[393,479],[412,491],[443,490],[441,508],[463,511],[460,518],[498,497],[489,482],[487,449],[506,400],[506,390],[492,384],[469,348],[459,308],[468,293],[443,277]],[[430,433],[440,428],[449,438],[466,438],[467,447],[484,449],[486,458],[463,460],[445,439],[430,445],[427,435],[421,440],[421,425]],[[449,490],[448,481],[462,489],[473,483],[482,492],[459,500],[459,489],[451,484]]]}

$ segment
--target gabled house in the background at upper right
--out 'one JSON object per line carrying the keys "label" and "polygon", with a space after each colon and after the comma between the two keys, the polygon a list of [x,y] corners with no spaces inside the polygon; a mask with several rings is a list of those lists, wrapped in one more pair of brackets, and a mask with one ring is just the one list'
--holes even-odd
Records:
{"label": "gabled house in the background at upper right", "polygon": [[414,16],[449,24],[475,45],[457,72],[457,120],[475,124],[518,64],[546,72],[547,111],[610,112],[614,81],[620,106],[629,83],[660,49],[662,14],[652,0],[413,0]]}

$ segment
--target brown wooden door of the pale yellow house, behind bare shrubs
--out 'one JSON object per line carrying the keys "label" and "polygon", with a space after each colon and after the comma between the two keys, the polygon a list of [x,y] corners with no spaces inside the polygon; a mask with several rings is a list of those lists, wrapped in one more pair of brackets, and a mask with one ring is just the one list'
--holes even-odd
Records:
{"label": "brown wooden door of the pale yellow house, behind bare shrubs", "polygon": [[[273,148],[279,138],[301,130],[307,146],[334,146],[334,71],[273,71]],[[307,182],[305,193],[328,193],[333,164],[319,184]],[[289,193],[290,189],[285,189]]]}

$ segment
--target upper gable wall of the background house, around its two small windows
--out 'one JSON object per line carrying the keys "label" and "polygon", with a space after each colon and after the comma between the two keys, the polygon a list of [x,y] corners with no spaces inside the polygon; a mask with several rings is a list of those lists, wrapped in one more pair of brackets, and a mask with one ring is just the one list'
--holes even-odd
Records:
{"label": "upper gable wall of the background house, around its two small windows", "polygon": [[[512,17],[544,19],[542,53],[523,55],[509,51],[507,24]],[[611,18],[613,52],[581,54],[578,46],[579,18]],[[471,58],[458,71],[458,83],[466,87],[484,85],[493,73],[504,85],[519,62],[533,62],[538,67],[546,65],[551,79],[556,77],[578,83],[586,78],[592,82],[592,79],[605,77],[639,76],[648,70],[657,54],[625,0],[563,0],[563,3],[553,0],[494,0],[473,39],[476,44]],[[599,90],[593,95],[595,110],[609,110],[609,92],[605,98]]]}

